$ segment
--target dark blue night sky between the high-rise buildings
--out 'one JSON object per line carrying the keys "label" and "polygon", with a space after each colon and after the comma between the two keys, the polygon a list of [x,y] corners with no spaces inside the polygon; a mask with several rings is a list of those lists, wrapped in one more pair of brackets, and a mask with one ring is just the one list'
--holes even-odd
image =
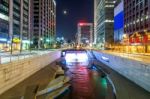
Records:
{"label": "dark blue night sky between the high-rise buildings", "polygon": [[[77,33],[77,23],[93,22],[94,0],[56,0],[57,3],[57,37],[72,40]],[[63,11],[67,11],[64,14]]]}

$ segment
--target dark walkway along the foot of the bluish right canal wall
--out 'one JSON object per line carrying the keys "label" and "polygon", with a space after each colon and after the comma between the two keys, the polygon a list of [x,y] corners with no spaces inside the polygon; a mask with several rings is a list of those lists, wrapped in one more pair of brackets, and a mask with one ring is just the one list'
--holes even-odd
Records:
{"label": "dark walkway along the foot of the bluish right canal wall", "polygon": [[109,77],[116,88],[117,99],[150,99],[150,92],[147,92],[135,83],[121,76],[103,63],[99,61],[95,61],[94,63],[104,69],[105,72],[109,73]]}

